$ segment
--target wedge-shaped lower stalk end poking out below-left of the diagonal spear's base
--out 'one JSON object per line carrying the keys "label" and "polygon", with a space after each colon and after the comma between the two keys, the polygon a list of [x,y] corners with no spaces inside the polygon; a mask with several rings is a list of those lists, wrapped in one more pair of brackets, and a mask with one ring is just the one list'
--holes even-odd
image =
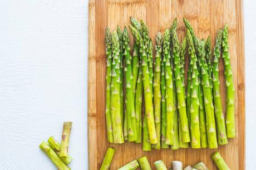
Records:
{"label": "wedge-shaped lower stalk end poking out below-left of the diagonal spear's base", "polygon": [[147,127],[147,117],[145,113],[144,113],[142,128],[143,128],[142,151],[151,151],[149,128]]}

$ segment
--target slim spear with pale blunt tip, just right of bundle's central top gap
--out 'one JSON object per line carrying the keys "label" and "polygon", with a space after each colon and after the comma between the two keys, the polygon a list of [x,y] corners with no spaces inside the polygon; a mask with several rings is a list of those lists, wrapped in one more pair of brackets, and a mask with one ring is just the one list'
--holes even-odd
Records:
{"label": "slim spear with pale blunt tip, just right of bundle's central top gap", "polygon": [[157,143],[152,145],[154,149],[161,149],[161,33],[156,35],[155,73],[154,73],[154,118],[156,126]]}

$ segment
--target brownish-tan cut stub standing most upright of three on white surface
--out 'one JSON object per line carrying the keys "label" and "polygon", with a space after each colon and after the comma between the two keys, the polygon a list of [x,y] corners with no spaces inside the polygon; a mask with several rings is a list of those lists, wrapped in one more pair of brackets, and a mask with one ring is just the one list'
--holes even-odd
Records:
{"label": "brownish-tan cut stub standing most upright of three on white surface", "polygon": [[70,142],[71,127],[72,127],[72,122],[63,123],[60,157],[67,157],[68,143]]}

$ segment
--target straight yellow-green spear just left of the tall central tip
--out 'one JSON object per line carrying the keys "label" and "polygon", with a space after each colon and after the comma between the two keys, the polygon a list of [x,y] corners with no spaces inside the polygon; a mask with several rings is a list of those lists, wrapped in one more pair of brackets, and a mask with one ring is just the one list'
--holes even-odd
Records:
{"label": "straight yellow-green spear just left of the tall central tip", "polygon": [[173,99],[173,72],[170,64],[170,33],[165,29],[164,33],[164,63],[165,63],[165,83],[166,83],[166,135],[165,144],[173,144],[174,137],[174,99]]}

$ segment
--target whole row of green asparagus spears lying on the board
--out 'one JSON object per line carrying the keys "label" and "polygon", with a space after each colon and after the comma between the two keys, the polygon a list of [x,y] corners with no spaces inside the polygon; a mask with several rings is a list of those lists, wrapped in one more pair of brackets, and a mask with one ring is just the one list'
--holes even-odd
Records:
{"label": "whole row of green asparagus spears lying on the board", "polygon": [[[112,34],[106,29],[106,124],[110,143],[123,143],[124,139],[142,141],[143,151],[188,148],[189,143],[191,148],[217,148],[218,144],[227,144],[228,137],[235,137],[227,26],[216,36],[212,60],[210,37],[200,40],[185,18],[184,23],[186,37],[181,44],[176,32],[177,19],[163,36],[157,33],[154,60],[152,40],[144,21],[131,17],[129,28],[135,40],[132,52],[126,28],[121,31],[117,27]],[[227,87],[226,122],[220,98],[221,49]],[[189,67],[185,88],[186,51]]]}

